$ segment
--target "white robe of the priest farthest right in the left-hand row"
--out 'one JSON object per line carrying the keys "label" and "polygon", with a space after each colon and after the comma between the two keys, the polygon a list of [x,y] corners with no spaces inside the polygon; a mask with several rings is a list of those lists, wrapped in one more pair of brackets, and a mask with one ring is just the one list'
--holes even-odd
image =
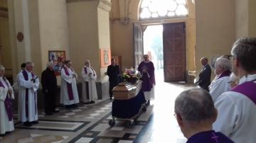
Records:
{"label": "white robe of the priest farthest right in the left-hand row", "polygon": [[88,103],[91,101],[97,101],[97,89],[95,84],[95,81],[97,79],[96,71],[92,67],[85,66],[84,68],[82,68],[81,76],[83,79],[82,80],[82,102]]}

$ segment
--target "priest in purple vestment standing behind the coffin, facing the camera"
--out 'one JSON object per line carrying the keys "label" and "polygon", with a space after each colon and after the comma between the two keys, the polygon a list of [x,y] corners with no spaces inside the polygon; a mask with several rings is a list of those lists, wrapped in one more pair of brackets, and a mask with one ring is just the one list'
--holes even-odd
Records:
{"label": "priest in purple vestment standing behind the coffin, facing the camera", "polygon": [[156,85],[154,76],[154,64],[149,61],[149,55],[144,55],[144,61],[139,64],[138,70],[142,74],[142,91],[145,100],[150,105],[151,98],[154,98],[154,85]]}

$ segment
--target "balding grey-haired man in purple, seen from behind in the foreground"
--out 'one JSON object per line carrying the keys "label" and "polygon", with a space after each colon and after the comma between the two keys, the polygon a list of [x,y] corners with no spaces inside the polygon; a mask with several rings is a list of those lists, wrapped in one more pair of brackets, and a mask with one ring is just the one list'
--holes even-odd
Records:
{"label": "balding grey-haired man in purple, seen from behind in the foreground", "polygon": [[186,143],[231,143],[231,139],[213,130],[218,111],[210,94],[202,88],[183,91],[175,101],[175,117]]}

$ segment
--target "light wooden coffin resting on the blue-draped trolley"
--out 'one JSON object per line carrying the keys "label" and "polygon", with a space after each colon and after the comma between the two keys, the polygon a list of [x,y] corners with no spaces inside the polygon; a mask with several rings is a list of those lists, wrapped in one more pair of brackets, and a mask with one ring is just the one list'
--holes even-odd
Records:
{"label": "light wooden coffin resting on the blue-draped trolley", "polygon": [[117,100],[127,100],[137,96],[140,89],[142,88],[142,81],[137,81],[136,84],[131,84],[129,82],[122,82],[113,88],[114,99]]}

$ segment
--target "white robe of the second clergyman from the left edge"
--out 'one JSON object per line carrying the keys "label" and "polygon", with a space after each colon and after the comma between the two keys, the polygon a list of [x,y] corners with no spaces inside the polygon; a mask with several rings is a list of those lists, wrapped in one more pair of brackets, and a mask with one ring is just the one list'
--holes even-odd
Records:
{"label": "white robe of the second clergyman from the left edge", "polygon": [[[25,80],[22,72],[18,74],[18,96],[20,96],[18,108],[20,108],[19,112],[21,112],[18,115],[21,115],[19,118],[21,122],[32,122],[38,120],[37,90],[40,83],[38,76],[34,75],[32,77],[31,72],[25,71],[28,74],[28,81]],[[36,79],[36,81],[31,81],[32,78]],[[26,88],[28,88],[28,117],[26,117]]]}

